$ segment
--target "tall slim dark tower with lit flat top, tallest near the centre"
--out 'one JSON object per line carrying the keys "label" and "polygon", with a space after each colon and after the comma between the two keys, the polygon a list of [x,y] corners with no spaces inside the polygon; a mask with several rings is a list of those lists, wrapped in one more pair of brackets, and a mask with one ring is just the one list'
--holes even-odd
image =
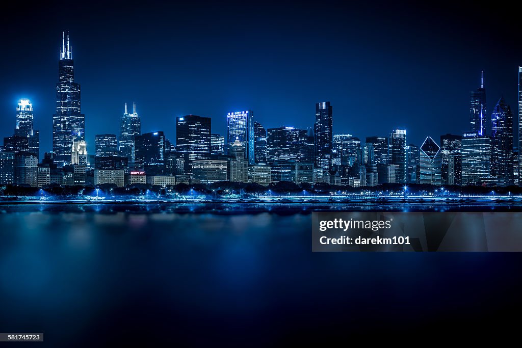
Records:
{"label": "tall slim dark tower with lit flat top, tallest near the centre", "polygon": [[330,102],[315,104],[315,167],[329,170],[333,142],[333,118]]}

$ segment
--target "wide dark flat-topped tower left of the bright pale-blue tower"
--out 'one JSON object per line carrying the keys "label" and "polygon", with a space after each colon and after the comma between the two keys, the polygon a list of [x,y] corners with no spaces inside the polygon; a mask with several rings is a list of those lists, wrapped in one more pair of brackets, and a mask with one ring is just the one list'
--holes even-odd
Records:
{"label": "wide dark flat-topped tower left of the bright pale-blue tower", "polygon": [[184,174],[192,161],[210,158],[210,117],[187,115],[176,118],[176,153],[183,160]]}

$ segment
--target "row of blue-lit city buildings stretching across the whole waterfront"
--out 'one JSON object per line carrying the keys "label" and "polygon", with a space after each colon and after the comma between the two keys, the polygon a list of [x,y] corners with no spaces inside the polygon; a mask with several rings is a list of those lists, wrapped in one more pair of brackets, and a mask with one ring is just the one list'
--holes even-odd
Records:
{"label": "row of blue-lit city buildings stretching across the whole waterfront", "polygon": [[[520,96],[520,85],[517,93]],[[56,83],[56,113],[52,118],[52,151],[43,149],[45,162],[40,165],[38,156],[42,148],[39,131],[33,131],[33,106],[29,99],[20,99],[15,135],[5,137],[1,148],[2,152],[11,152],[15,157],[12,160],[7,157],[4,159],[6,162],[2,172],[5,173],[2,177],[12,174],[13,183],[30,186],[44,186],[51,182],[63,185],[112,183],[124,186],[129,182],[129,171],[138,169],[146,173],[147,183],[161,182],[166,185],[176,180],[211,183],[220,181],[224,175],[228,181],[245,183],[255,179],[259,180],[256,183],[268,184],[270,181],[258,176],[259,170],[266,170],[265,174],[270,175],[270,180],[275,182],[327,182],[350,186],[374,186],[385,182],[432,185],[449,182],[463,182],[465,185],[519,184],[519,156],[514,151],[513,112],[502,95],[488,123],[486,95],[484,74],[481,71],[480,87],[471,91],[469,131],[463,133],[461,149],[452,150],[459,143],[458,139],[451,139],[453,135],[441,135],[444,148],[438,146],[429,135],[420,147],[419,158],[412,152],[417,149],[417,145],[408,145],[406,127],[394,128],[387,139],[366,137],[365,143],[350,134],[334,134],[334,108],[329,101],[322,101],[315,103],[313,127],[267,128],[266,150],[265,128],[255,121],[254,112],[228,112],[224,155],[218,151],[213,157],[211,153],[216,150],[216,141],[219,150],[220,140],[216,137],[221,136],[213,133],[211,117],[193,114],[176,117],[176,141],[173,144],[162,130],[141,133],[141,117],[136,111],[136,103],[133,103],[132,114],[128,112],[125,103],[125,112],[120,117],[119,137],[114,134],[97,134],[96,158],[89,160],[85,114],[81,113],[80,85],[75,80],[72,45],[69,33],[65,35],[63,32]],[[520,116],[520,102],[517,106]],[[379,149],[379,139],[383,139],[383,145],[387,147],[384,153]],[[108,151],[107,146],[113,150]],[[376,150],[381,153],[381,159],[376,157]],[[225,156],[227,152],[228,158]],[[259,159],[265,156],[267,163],[260,163]],[[92,164],[94,175],[90,176],[87,166]],[[56,166],[64,169],[57,171]],[[216,175],[220,167],[224,173]],[[123,175],[123,171],[126,171],[127,176]],[[175,178],[166,179],[164,175]]]}

